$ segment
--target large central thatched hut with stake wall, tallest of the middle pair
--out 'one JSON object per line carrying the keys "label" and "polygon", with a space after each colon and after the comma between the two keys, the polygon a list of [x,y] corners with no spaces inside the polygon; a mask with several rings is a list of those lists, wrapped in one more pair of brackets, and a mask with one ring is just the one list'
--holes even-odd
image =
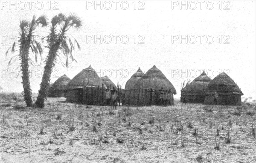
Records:
{"label": "large central thatched hut with stake wall, tallest of the middle pair", "polygon": [[132,89],[125,89],[125,104],[132,106],[163,105],[160,102],[160,90],[168,94],[166,105],[173,105],[173,94],[176,94],[174,86],[162,71],[153,66],[135,83]]}

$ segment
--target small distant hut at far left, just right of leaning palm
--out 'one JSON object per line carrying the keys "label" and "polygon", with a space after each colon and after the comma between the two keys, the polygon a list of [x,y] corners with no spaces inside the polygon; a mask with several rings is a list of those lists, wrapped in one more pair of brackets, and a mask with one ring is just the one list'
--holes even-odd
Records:
{"label": "small distant hut at far left, just right of leaning palm", "polygon": [[51,97],[67,97],[67,84],[70,80],[66,74],[59,77],[51,86]]}

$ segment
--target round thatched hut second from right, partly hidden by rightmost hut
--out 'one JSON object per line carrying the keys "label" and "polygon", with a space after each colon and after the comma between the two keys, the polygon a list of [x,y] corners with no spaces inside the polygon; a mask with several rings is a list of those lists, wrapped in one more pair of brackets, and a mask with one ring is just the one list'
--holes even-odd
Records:
{"label": "round thatched hut second from right, partly hidden by rightmost hut", "polygon": [[212,79],[203,73],[191,83],[181,89],[180,102],[182,103],[204,103],[207,86]]}

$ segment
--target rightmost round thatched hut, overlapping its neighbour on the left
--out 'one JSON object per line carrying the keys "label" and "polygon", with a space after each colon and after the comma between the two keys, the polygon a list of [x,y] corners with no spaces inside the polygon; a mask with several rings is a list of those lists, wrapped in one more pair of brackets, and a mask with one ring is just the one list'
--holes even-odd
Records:
{"label": "rightmost round thatched hut, overlapping its neighbour on the left", "polygon": [[[217,94],[217,96],[215,96],[215,94]],[[216,99],[217,105],[240,106],[242,95],[244,94],[234,80],[223,72],[208,84],[204,104],[215,104],[214,99]]]}

